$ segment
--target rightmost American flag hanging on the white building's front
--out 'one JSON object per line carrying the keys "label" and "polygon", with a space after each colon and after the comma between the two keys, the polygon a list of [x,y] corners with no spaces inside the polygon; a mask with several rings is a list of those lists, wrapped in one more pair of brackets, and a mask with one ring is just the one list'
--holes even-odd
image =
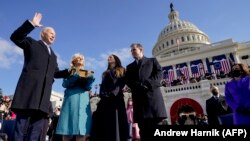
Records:
{"label": "rightmost American flag hanging on the white building's front", "polygon": [[226,74],[230,72],[230,62],[227,59],[215,60],[214,70],[216,74],[220,74],[220,71],[224,71]]}

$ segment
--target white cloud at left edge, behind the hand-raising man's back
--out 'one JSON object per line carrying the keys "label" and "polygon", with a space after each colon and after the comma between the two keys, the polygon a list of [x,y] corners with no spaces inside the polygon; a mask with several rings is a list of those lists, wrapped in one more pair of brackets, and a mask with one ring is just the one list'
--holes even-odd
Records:
{"label": "white cloud at left edge, behind the hand-raising man's back", "polygon": [[9,69],[12,65],[22,64],[22,50],[11,42],[0,38],[0,68]]}

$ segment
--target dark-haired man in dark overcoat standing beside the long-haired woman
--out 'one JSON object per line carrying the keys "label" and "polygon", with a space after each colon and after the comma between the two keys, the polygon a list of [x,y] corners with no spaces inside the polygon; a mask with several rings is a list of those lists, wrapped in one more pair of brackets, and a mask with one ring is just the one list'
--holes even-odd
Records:
{"label": "dark-haired man in dark overcoat standing beside the long-haired woman", "polygon": [[150,138],[150,128],[167,118],[160,91],[162,69],[156,58],[143,55],[141,44],[130,47],[135,61],[127,66],[125,78],[132,92],[134,122],[139,125],[141,141],[145,141]]}

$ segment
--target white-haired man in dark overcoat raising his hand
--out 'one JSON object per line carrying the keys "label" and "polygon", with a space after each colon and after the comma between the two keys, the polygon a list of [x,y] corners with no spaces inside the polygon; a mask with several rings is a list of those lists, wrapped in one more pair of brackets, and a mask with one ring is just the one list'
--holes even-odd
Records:
{"label": "white-haired man in dark overcoat raising his hand", "polygon": [[59,71],[57,57],[51,48],[56,36],[52,27],[42,29],[39,41],[27,37],[36,27],[42,26],[41,19],[42,14],[35,13],[32,20],[26,20],[10,37],[24,54],[23,69],[11,106],[17,115],[14,141],[43,138],[54,77],[68,75],[67,70]]}

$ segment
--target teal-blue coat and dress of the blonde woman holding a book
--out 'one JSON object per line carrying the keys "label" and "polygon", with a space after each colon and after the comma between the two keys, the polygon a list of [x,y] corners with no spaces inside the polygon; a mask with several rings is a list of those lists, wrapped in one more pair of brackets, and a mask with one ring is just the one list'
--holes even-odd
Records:
{"label": "teal-blue coat and dress of the blonde woman holding a book", "polygon": [[80,78],[78,74],[63,80],[64,100],[56,128],[60,135],[89,135],[91,128],[91,108],[89,90],[93,76]]}

